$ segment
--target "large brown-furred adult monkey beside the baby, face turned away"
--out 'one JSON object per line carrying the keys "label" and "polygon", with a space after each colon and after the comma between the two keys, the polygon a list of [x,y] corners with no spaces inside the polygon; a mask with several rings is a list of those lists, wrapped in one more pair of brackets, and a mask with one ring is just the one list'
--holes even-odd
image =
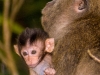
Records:
{"label": "large brown-furred adult monkey beside the baby, face turned away", "polygon": [[100,0],[53,0],[42,14],[56,75],[100,75]]}

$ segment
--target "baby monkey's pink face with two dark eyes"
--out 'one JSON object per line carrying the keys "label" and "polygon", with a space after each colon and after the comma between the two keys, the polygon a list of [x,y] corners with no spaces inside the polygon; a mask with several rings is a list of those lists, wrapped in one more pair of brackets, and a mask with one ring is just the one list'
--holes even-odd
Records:
{"label": "baby monkey's pink face with two dark eyes", "polygon": [[36,41],[32,45],[27,43],[22,47],[21,55],[23,56],[28,67],[35,67],[41,60],[44,53],[44,44],[42,41]]}

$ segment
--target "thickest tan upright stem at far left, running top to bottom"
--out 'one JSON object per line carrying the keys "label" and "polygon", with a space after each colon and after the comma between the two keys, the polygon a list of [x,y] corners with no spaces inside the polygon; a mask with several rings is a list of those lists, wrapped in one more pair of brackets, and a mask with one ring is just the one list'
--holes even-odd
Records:
{"label": "thickest tan upright stem at far left, running top to bottom", "polygon": [[9,67],[9,70],[11,71],[12,75],[18,75],[14,60],[11,54],[11,32],[10,27],[8,23],[8,17],[9,17],[9,6],[10,6],[10,0],[4,0],[4,14],[3,14],[3,40],[4,40],[4,49],[5,53],[7,55],[6,59],[3,59],[3,55],[1,55],[2,61]]}

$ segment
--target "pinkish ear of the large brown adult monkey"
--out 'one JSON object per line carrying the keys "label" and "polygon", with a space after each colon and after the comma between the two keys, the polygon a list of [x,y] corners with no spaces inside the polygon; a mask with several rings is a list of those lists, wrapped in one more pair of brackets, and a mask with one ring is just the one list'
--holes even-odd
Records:
{"label": "pinkish ear of the large brown adult monkey", "polygon": [[75,0],[75,10],[81,11],[87,8],[87,0]]}

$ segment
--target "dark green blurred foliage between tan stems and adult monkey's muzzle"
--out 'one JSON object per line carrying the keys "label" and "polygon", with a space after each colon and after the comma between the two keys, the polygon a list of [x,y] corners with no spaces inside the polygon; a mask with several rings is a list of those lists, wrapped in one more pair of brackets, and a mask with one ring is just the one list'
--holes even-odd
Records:
{"label": "dark green blurred foliage between tan stems and adult monkey's muzzle", "polygon": [[39,27],[41,26],[41,10],[50,0],[25,0],[21,7],[16,21],[23,24],[24,27]]}

